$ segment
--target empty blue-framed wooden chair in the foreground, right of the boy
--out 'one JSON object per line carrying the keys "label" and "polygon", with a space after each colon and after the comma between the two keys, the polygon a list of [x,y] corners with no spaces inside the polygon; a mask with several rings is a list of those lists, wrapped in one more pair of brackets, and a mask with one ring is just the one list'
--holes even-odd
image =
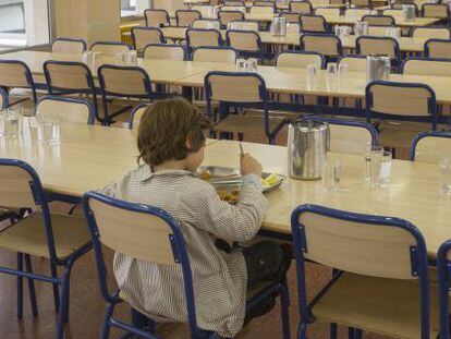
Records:
{"label": "empty blue-framed wooden chair in the foreground, right of the boy", "polygon": [[[356,338],[362,338],[361,329],[398,338],[432,338],[427,251],[415,226],[316,205],[295,208],[291,225],[301,314],[297,338],[306,338],[308,325],[316,319],[349,326]],[[306,261],[334,269],[310,303]],[[336,336],[333,326],[331,337]]]}

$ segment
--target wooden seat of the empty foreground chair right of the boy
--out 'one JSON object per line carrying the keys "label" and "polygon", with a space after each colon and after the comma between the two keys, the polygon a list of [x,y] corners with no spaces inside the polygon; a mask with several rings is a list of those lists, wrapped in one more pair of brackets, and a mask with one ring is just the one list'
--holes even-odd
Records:
{"label": "wooden seat of the empty foreground chair right of the boy", "polygon": [[[430,286],[430,338],[438,335],[438,289]],[[342,274],[313,307],[318,319],[395,338],[420,337],[419,286],[416,280]]]}

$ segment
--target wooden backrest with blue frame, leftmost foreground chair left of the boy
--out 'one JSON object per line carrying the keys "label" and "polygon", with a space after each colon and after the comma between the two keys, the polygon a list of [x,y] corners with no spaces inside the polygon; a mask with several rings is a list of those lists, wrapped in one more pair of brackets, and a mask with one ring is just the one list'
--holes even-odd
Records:
{"label": "wooden backrest with blue frame, leftmost foreground chair left of the boy", "polygon": [[22,160],[0,158],[0,205],[10,208],[33,208],[42,213],[44,231],[50,259],[58,261],[49,206],[36,170]]}

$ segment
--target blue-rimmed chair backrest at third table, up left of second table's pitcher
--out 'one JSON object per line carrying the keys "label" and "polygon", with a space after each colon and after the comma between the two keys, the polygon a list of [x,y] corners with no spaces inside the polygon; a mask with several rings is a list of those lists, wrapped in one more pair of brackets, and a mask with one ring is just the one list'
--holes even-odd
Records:
{"label": "blue-rimmed chair backrest at third table, up left of second table's pitcher", "polygon": [[336,35],[304,34],[301,36],[301,50],[337,57],[341,55],[342,46],[340,38]]}

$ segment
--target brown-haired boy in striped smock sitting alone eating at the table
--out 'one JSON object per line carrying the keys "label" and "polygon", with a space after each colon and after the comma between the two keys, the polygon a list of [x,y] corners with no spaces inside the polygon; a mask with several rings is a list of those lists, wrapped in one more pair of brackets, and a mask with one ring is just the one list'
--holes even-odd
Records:
{"label": "brown-haired boy in striped smock sitting alone eating at the table", "polygon": [[[102,193],[162,208],[180,221],[193,271],[198,326],[234,337],[244,323],[273,307],[275,298],[245,318],[248,289],[263,280],[280,281],[291,252],[270,241],[244,250],[223,245],[252,240],[268,204],[261,194],[261,165],[248,154],[241,156],[243,183],[236,205],[220,201],[214,186],[195,174],[204,160],[209,128],[205,116],[184,99],[155,104],[138,129],[138,160],[144,164]],[[157,322],[187,322],[180,267],[115,253],[114,275],[124,299],[138,312]]]}

